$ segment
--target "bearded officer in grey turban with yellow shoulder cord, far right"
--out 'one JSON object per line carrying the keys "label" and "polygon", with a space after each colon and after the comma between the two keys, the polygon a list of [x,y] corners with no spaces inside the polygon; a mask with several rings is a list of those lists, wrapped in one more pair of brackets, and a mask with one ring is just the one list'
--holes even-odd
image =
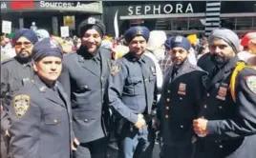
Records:
{"label": "bearded officer in grey turban with yellow shoulder cord, far right", "polygon": [[[206,82],[199,118],[193,121],[197,158],[254,158],[256,155],[256,109],[253,103],[255,80],[238,78],[237,102],[230,92],[230,77],[240,48],[235,32],[213,30],[208,37],[210,57],[215,68]],[[250,73],[251,74],[251,73]],[[240,85],[240,86],[239,86]],[[242,90],[244,89],[244,90]],[[250,90],[250,91],[249,91]]]}

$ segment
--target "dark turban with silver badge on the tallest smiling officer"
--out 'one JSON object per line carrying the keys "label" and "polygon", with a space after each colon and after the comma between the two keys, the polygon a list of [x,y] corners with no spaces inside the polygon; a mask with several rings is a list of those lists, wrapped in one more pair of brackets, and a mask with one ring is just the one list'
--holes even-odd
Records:
{"label": "dark turban with silver badge on the tallest smiling officer", "polygon": [[82,21],[78,26],[78,35],[82,37],[86,30],[96,30],[101,37],[105,34],[105,25],[98,19],[90,17]]}

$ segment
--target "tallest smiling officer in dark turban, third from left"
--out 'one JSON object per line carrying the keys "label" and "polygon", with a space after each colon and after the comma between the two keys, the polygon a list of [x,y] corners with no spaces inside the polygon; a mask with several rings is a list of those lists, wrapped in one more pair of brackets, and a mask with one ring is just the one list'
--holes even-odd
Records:
{"label": "tallest smiling officer in dark turban, third from left", "polygon": [[105,31],[101,21],[90,17],[78,31],[81,47],[64,56],[59,79],[72,100],[75,136],[80,142],[75,158],[105,158],[111,52],[99,49]]}

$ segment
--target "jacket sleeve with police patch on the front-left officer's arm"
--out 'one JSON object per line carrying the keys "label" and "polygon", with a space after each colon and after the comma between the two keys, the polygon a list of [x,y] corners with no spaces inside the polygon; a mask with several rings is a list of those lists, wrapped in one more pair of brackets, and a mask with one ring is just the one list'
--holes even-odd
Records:
{"label": "jacket sleeve with police patch on the front-left officer's arm", "polygon": [[[38,158],[41,109],[31,99],[25,103],[19,102],[15,98],[10,107],[10,156],[11,158]],[[28,109],[26,110],[27,106]],[[21,110],[22,112],[20,112]],[[17,111],[23,115],[17,114]]]}

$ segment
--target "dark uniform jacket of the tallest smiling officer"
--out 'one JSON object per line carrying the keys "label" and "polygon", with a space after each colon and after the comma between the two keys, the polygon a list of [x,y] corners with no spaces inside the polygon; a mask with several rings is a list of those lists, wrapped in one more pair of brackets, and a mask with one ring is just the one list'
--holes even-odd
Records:
{"label": "dark uniform jacket of the tallest smiling officer", "polygon": [[69,53],[63,59],[59,81],[71,98],[75,137],[81,143],[106,136],[109,119],[107,105],[111,53],[97,49],[92,56],[86,49]]}

